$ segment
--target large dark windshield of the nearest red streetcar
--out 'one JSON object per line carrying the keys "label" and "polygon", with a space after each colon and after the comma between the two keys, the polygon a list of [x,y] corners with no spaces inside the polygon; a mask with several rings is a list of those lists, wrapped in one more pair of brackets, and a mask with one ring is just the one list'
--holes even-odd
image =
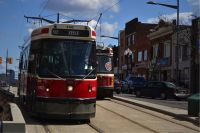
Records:
{"label": "large dark windshield of the nearest red streetcar", "polygon": [[[94,41],[45,39],[33,42],[31,52],[41,77],[82,78],[96,66]],[[88,77],[95,78],[95,72]]]}

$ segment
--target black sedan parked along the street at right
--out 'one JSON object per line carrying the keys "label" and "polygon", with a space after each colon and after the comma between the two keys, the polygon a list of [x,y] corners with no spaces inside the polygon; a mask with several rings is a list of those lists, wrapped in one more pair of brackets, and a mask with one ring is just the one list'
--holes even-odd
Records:
{"label": "black sedan parked along the street at right", "polygon": [[175,98],[177,100],[187,98],[190,95],[188,89],[164,81],[149,81],[143,87],[135,87],[134,93],[136,97],[148,96],[152,98],[160,97],[161,99]]}

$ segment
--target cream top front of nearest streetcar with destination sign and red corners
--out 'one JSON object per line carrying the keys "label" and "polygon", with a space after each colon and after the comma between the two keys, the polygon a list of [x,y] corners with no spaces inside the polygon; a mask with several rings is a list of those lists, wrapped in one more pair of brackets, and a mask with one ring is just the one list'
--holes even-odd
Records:
{"label": "cream top front of nearest streetcar with destination sign and red corners", "polygon": [[42,38],[95,40],[95,30],[87,25],[56,23],[32,31],[31,40]]}

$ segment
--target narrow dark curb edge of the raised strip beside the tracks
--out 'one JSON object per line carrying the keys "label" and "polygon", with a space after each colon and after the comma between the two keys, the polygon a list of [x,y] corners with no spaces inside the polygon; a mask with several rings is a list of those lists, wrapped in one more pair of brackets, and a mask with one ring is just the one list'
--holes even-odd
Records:
{"label": "narrow dark curb edge of the raised strip beside the tracks", "polygon": [[163,113],[163,114],[166,114],[166,115],[169,115],[169,116],[181,119],[181,120],[189,121],[189,122],[194,123],[194,124],[199,125],[199,123],[200,123],[198,118],[193,119],[190,116],[188,116],[187,114],[177,114],[177,113],[174,113],[174,112],[166,111],[166,110],[161,109],[161,108],[155,108],[155,107],[152,107],[152,106],[144,105],[142,103],[133,101],[131,99],[121,98],[121,97],[118,97],[118,96],[113,96],[112,99],[119,100],[119,101],[122,101],[122,102],[126,102],[126,103],[129,103],[129,104],[133,104],[133,105],[136,105],[136,106],[139,106],[139,107],[142,107],[142,108],[146,108],[146,109],[149,109],[149,110],[153,110],[153,111],[156,111],[156,112],[159,112],[159,113]]}

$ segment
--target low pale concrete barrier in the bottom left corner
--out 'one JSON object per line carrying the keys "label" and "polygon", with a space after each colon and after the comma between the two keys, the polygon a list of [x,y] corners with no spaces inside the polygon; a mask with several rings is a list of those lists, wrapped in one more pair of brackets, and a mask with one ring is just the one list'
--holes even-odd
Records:
{"label": "low pale concrete barrier in the bottom left corner", "polygon": [[15,103],[9,103],[12,114],[12,121],[2,121],[2,131],[4,132],[22,132],[25,133],[25,120],[18,106]]}

